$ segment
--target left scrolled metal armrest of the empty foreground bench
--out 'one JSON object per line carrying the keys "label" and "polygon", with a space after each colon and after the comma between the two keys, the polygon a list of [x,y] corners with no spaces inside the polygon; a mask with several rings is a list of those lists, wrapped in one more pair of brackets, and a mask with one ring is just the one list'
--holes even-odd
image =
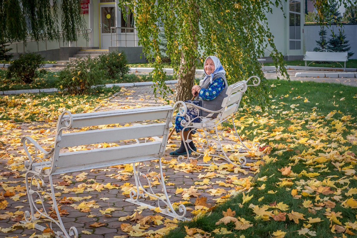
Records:
{"label": "left scrolled metal armrest of the empty foreground bench", "polygon": [[[26,142],[28,144],[32,144],[32,145],[35,146],[35,155],[31,156],[29,150],[26,147]],[[41,164],[43,164],[43,166],[45,166],[45,163],[44,163],[43,159],[48,158],[54,152],[54,148],[52,148],[50,151],[44,150],[44,148],[42,148],[34,139],[32,139],[29,136],[22,137],[21,138],[21,143],[22,143],[22,146],[24,147],[24,150],[25,150],[27,156],[29,157],[29,161],[25,161],[24,162],[24,166],[25,166],[26,170],[31,170],[32,169],[32,164],[36,163],[36,162],[40,162]],[[38,154],[37,150],[39,150],[39,151],[41,151],[42,153],[45,154],[43,159],[37,156],[37,154]]]}

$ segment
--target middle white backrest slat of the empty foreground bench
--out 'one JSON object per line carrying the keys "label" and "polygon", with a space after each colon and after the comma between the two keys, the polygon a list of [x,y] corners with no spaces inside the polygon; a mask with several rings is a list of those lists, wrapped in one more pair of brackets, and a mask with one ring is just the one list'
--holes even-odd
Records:
{"label": "middle white backrest slat of the empty foreground bench", "polygon": [[166,123],[115,127],[109,129],[89,130],[62,134],[60,148],[91,145],[103,142],[139,139],[152,136],[163,136]]}

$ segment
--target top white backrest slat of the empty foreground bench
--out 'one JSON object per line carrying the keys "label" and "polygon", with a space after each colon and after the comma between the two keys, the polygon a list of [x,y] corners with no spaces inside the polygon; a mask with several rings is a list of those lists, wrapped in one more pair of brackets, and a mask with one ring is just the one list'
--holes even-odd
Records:
{"label": "top white backrest slat of the empty foreground bench", "polygon": [[[98,113],[72,114],[72,128],[166,119],[170,113],[172,114],[172,110],[171,106],[160,106],[129,109],[125,110],[125,112],[123,112],[124,110],[115,110]],[[68,118],[68,116],[65,115],[64,120],[66,120],[66,118]],[[60,124],[60,128],[61,127],[65,127],[63,121]],[[57,128],[57,130],[58,129],[59,128]]]}

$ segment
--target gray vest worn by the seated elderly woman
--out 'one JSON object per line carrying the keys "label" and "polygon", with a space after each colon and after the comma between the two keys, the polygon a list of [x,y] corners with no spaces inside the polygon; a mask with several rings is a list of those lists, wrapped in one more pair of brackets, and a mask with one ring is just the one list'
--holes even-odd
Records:
{"label": "gray vest worn by the seated elderly woman", "polygon": [[[215,82],[216,79],[218,78],[222,78],[224,83],[225,83],[225,87],[223,88],[223,90],[218,94],[218,96],[211,100],[211,101],[207,101],[207,100],[202,100],[202,107],[210,110],[210,111],[218,111],[218,110],[221,110],[222,108],[222,101],[223,101],[223,98],[227,97],[227,88],[228,88],[228,83],[227,83],[227,80],[226,80],[226,77],[224,74],[222,73],[218,73],[216,74],[215,76],[213,76],[213,80],[212,80],[212,83]],[[210,80],[209,79],[206,79],[201,88],[205,88],[207,89],[208,86],[210,86]],[[199,100],[198,96],[196,97],[196,100]],[[206,112],[206,111],[202,111],[202,116],[203,117],[206,117],[209,113]],[[213,114],[212,117],[217,117],[218,113],[215,113]]]}

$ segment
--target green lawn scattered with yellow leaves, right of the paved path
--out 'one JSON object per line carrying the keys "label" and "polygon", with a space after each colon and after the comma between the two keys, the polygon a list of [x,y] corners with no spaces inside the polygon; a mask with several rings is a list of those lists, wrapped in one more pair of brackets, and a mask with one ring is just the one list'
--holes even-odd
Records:
{"label": "green lawn scattered with yellow leaves, right of the paved path", "polygon": [[266,152],[251,187],[167,237],[356,236],[356,88],[272,82],[271,111],[237,117]]}

